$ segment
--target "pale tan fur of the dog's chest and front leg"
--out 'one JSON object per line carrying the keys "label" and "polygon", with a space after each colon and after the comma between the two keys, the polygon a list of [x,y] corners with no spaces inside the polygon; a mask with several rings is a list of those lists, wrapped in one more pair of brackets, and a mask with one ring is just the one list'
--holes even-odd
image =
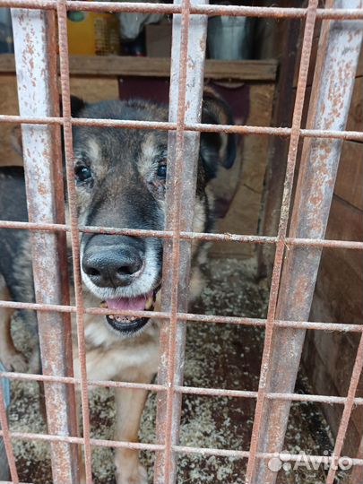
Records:
{"label": "pale tan fur of the dog's chest and front leg", "polygon": [[[194,299],[202,290],[201,272],[194,268],[190,281],[190,298]],[[91,297],[92,298],[92,297]],[[91,306],[91,298],[86,295],[86,306]],[[155,303],[160,311],[160,293]],[[115,380],[132,383],[151,383],[159,364],[160,321],[153,320],[143,333],[132,339],[120,340],[110,335],[105,318],[99,315],[85,315],[87,378],[90,380]],[[165,324],[165,322],[164,322]],[[103,340],[104,327],[107,341]],[[76,324],[73,317],[73,368],[74,376],[80,377],[80,361],[76,341]],[[137,442],[140,420],[147,392],[138,389],[120,388],[116,390],[115,439],[124,442]],[[80,401],[80,396],[77,398]],[[118,448],[115,452],[117,484],[147,484],[146,471],[139,462],[138,451]],[[82,482],[84,468],[82,464]]]}

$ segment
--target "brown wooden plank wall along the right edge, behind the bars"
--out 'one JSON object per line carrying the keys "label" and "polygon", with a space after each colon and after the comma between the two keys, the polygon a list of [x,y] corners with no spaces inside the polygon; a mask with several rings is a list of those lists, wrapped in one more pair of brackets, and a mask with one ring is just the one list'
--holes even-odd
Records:
{"label": "brown wooden plank wall along the right edge, behind the bars", "polygon": [[[311,78],[312,79],[312,78]],[[363,50],[350,105],[347,129],[363,131]],[[344,142],[334,188],[326,238],[363,240],[363,143]],[[363,255],[324,249],[310,314],[311,321],[362,324]],[[303,365],[315,393],[345,396],[359,343],[358,334],[307,333]],[[359,384],[363,396],[363,376]],[[341,415],[336,405],[324,406],[335,434]],[[354,411],[344,452],[352,457],[363,433],[363,409]]]}

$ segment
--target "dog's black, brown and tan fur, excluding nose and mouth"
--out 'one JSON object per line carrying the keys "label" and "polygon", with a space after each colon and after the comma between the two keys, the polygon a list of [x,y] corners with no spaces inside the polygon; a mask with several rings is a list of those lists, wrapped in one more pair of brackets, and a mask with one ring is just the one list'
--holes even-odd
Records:
{"label": "dog's black, brown and tan fur, excluding nose and mouth", "polygon": [[[206,122],[215,123],[219,119],[229,120],[228,109],[226,114],[221,100],[212,101],[211,94],[208,94],[208,98],[210,99],[209,103],[203,110]],[[166,107],[160,108],[152,103],[142,101],[99,103],[84,108],[84,111],[82,110],[82,102],[79,103],[79,106],[81,106],[81,117],[157,119],[160,121],[168,119]],[[117,131],[116,129],[102,131],[102,128],[81,126],[74,129],[75,173],[77,173],[77,164],[82,164],[82,167],[86,166],[91,169],[92,175],[89,182],[83,182],[83,180],[80,182],[79,179],[77,181],[79,223],[82,225],[109,224],[113,227],[137,229],[163,229],[165,179],[161,179],[159,175],[156,176],[156,173],[160,163],[166,163],[167,133],[138,130]],[[208,180],[215,176],[218,171],[218,164],[222,164],[223,160],[227,158],[227,151],[230,147],[226,134],[208,134],[206,137],[202,135],[201,140],[193,224],[195,232],[211,229],[212,196],[207,194],[206,186]],[[228,163],[230,163],[230,156]],[[26,220],[26,213],[22,212],[24,210],[26,212],[22,178],[17,173],[9,172],[3,178],[0,174],[0,185],[2,181],[4,186],[0,186],[0,210],[4,214],[0,213],[0,219],[6,220],[6,217],[8,217],[7,220]],[[19,194],[16,194],[17,190],[19,190]],[[5,194],[4,200],[2,199],[2,191]],[[14,213],[17,210],[16,203],[10,208],[4,206],[8,204],[6,196],[9,194],[13,194],[17,200],[22,199],[22,203],[18,203],[23,205],[22,213]],[[4,238],[4,254],[0,255],[0,272],[4,274],[4,279],[7,281],[15,300],[30,301],[34,299],[30,240],[24,231],[1,230],[3,230],[1,232],[3,235],[0,234],[0,240],[1,237]],[[14,232],[17,233],[14,234]],[[14,237],[17,239],[13,240]],[[136,297],[139,294],[149,293],[150,290],[156,290],[155,288],[159,284],[158,279],[161,277],[160,253],[162,247],[160,240],[149,239],[144,242],[143,264],[149,264],[147,266],[149,272],[146,275],[144,275],[146,271],[143,271],[142,275],[131,283],[125,285],[117,282],[118,285],[112,287],[111,285],[98,285],[98,283],[92,281],[92,274],[85,272],[87,268],[84,268],[83,262],[87,247],[90,247],[93,243],[93,249],[94,247],[98,248],[97,256],[100,257],[104,254],[102,251],[106,252],[109,240],[114,241],[115,253],[119,250],[117,247],[121,247],[125,243],[131,245],[134,242],[130,242],[130,238],[123,238],[122,236],[109,236],[110,238],[107,240],[102,237],[105,236],[83,234],[81,239],[83,294],[86,307],[98,307],[102,299],[133,298],[134,295],[127,292],[131,290],[130,288],[133,288]],[[142,246],[142,242],[143,240],[140,241],[139,239],[139,247]],[[104,248],[105,246],[106,248]],[[197,241],[192,244],[193,267],[189,286],[190,300],[199,295],[203,285],[198,265],[205,260],[206,248],[207,245],[200,245]],[[150,254],[154,255],[155,260],[150,260],[148,250]],[[152,271],[155,273],[151,274]],[[142,278],[143,285],[149,284],[150,286],[144,290],[140,290],[136,286],[138,283],[142,283],[140,281]],[[109,296],[110,293],[113,296]],[[0,298],[9,299],[5,286],[0,293]],[[160,292],[157,292],[154,308],[157,311],[160,310]],[[112,315],[111,311],[110,313]],[[7,367],[23,370],[24,361],[19,352],[15,350],[11,338],[11,316],[10,310],[0,310],[0,358],[4,360]],[[27,324],[30,324],[31,319],[35,319],[35,315],[31,315],[29,312],[25,317]],[[74,317],[72,321],[73,370],[74,376],[80,377],[77,328]],[[115,329],[111,331],[105,316],[84,315],[84,324],[87,351],[86,365],[89,379],[134,383],[151,382],[158,370],[159,363],[159,321],[151,319],[143,326],[142,330],[137,330],[133,335],[124,338],[119,333],[117,334]],[[33,359],[33,361],[35,360]],[[117,440],[137,441],[145,399],[146,392],[143,390],[117,389],[115,423],[115,438]],[[118,448],[115,453],[115,463],[117,484],[147,483],[146,471],[139,463],[137,451]]]}

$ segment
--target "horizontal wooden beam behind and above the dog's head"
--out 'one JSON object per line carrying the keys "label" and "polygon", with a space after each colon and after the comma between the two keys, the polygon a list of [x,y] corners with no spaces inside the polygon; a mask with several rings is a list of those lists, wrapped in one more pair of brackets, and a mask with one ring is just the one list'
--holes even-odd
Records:
{"label": "horizontal wooden beam behind and above the dog's head", "polygon": [[[73,76],[151,76],[169,77],[170,59],[133,56],[70,56]],[[204,76],[210,79],[238,81],[270,81],[276,78],[275,60],[220,61],[207,59]],[[0,73],[15,73],[12,54],[0,56]]]}

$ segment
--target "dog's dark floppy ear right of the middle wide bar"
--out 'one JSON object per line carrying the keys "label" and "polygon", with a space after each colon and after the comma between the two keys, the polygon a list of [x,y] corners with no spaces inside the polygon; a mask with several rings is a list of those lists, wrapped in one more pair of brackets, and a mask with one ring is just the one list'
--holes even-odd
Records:
{"label": "dog's dark floppy ear right of the middle wide bar", "polygon": [[[202,123],[234,124],[229,105],[211,89],[203,92]],[[236,135],[201,133],[201,157],[208,180],[217,175],[220,166],[230,169],[236,158]]]}

